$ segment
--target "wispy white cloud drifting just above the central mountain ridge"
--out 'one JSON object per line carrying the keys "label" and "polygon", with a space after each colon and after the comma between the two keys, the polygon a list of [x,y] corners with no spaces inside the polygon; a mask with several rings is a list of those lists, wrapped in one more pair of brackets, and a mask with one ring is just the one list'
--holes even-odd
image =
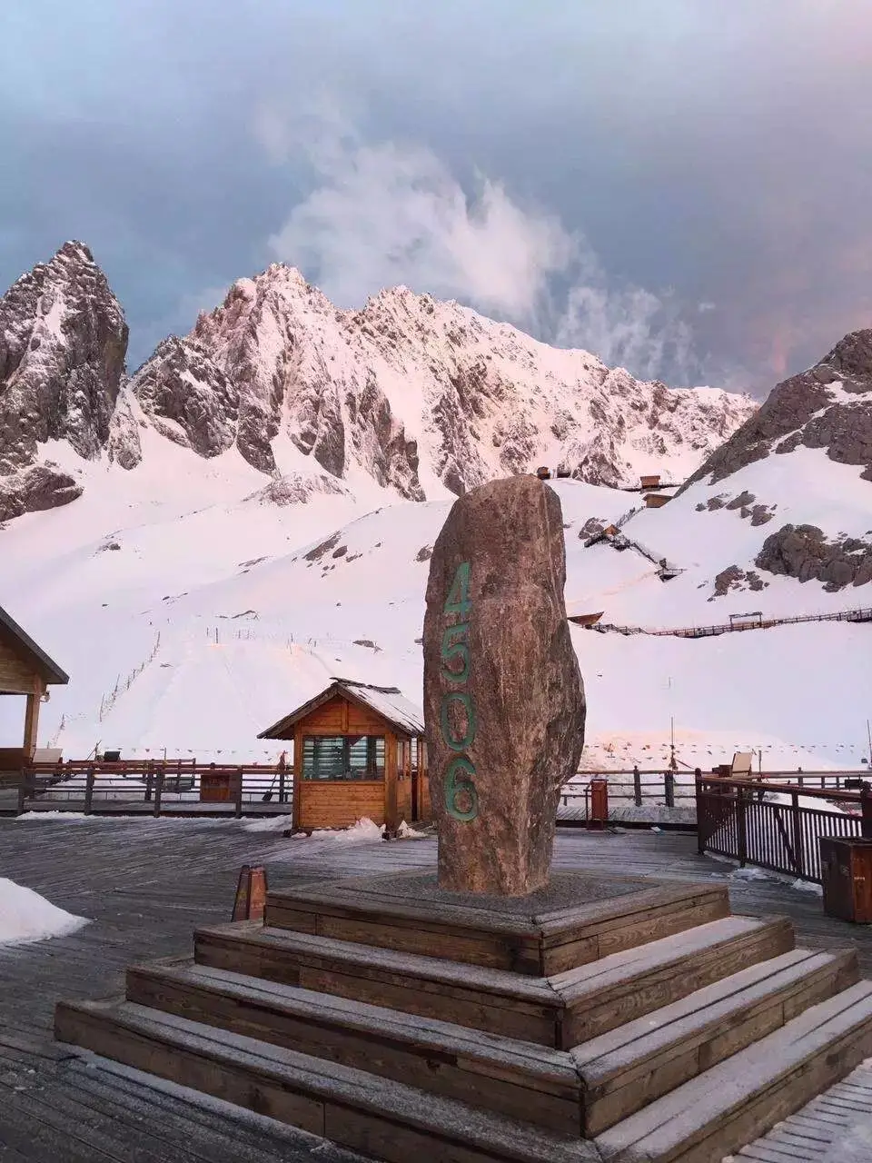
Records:
{"label": "wispy white cloud drifting just above the central mountain ridge", "polygon": [[636,376],[692,378],[692,333],[672,297],[610,288],[584,235],[500,181],[477,174],[469,195],[433,150],[364,141],[329,102],[287,119],[264,108],[255,133],[273,163],[303,155],[314,184],[270,248],[341,306],[407,285]]}

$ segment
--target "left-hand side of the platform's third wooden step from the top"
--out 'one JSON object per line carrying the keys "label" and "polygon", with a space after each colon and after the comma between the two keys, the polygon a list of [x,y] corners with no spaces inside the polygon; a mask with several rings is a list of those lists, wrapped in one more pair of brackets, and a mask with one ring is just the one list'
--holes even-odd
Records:
{"label": "left-hand side of the platform's third wooden step from the top", "polygon": [[128,969],[127,999],[579,1134],[580,1079],[560,1050],[181,958]]}

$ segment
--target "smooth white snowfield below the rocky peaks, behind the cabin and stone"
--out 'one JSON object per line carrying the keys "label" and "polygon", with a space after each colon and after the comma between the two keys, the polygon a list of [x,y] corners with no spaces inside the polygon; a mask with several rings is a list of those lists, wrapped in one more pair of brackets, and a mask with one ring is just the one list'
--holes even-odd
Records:
{"label": "smooth white snowfield below the rocky peaks, behind the cabin and stone", "polygon": [[[779,505],[766,526],[752,528],[737,511],[696,512],[709,495],[737,494],[732,478],[637,512],[624,531],[687,570],[667,583],[634,550],[585,549],[579,535],[589,518],[615,521],[637,507],[638,494],[552,481],[566,526],[567,608],[602,609],[603,621],[687,626],[748,609],[792,615],[872,605],[869,587],[825,594],[789,578],[707,600],[714,576],[732,563],[748,568],[786,520],[812,514],[832,534],[872,526],[872,486],[858,470],[824,461],[799,449],[735,478],[759,502]],[[141,471],[150,475],[144,486],[135,479]],[[0,530],[2,604],[71,675],[41,708],[40,745],[62,747],[67,757],[100,747],[136,758],[165,750],[272,763],[283,744],[257,734],[334,676],[395,685],[421,704],[416,640],[429,551],[451,501],[396,502],[373,486],[252,505],[246,498],[263,485],[235,451],[202,461],[162,441],[142,470],[116,473],[112,488],[90,487],[73,505]],[[573,627],[588,701],[582,765],[660,766],[673,726],[688,773],[737,750],[762,751],[764,770],[859,769],[872,709],[870,633],[809,623],[680,640]],[[23,699],[0,700],[0,745],[17,743],[22,723]]]}

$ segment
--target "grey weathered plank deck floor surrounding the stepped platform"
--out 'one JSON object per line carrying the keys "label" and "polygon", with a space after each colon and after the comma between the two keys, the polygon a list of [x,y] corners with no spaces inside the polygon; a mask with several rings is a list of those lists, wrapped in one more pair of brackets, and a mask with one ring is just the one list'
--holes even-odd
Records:
{"label": "grey weathered plank deck floor surrounding the stepped platform", "polygon": [[[0,947],[0,1163],[351,1163],[350,1153],[257,1115],[70,1058],[52,1041],[53,1006],[119,993],[131,962],[188,951],[198,923],[229,920],[243,863],[265,864],[279,887],[431,866],[435,856],[431,840],[284,840],[238,821],[0,820],[0,876],[93,919],[67,937]],[[556,864],[680,880],[731,871],[699,857],[694,836],[666,832],[566,829]],[[856,944],[872,977],[872,927],[825,918],[819,896],[778,880],[730,880],[730,893],[736,912],[789,915],[803,944]]]}

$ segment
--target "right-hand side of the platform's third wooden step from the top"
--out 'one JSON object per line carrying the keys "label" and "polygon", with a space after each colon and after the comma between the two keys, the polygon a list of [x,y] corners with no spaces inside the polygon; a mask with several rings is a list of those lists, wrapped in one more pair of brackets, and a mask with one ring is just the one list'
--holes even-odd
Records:
{"label": "right-hand side of the platform's third wooden step from the top", "polygon": [[795,949],[576,1047],[588,1137],[859,978],[853,949]]}

